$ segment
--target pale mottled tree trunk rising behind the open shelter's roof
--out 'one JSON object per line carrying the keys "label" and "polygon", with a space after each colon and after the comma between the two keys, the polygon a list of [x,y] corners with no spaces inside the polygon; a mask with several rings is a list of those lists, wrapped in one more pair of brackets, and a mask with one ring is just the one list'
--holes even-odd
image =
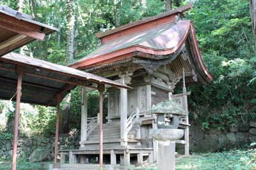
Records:
{"label": "pale mottled tree trunk rising behind the open shelter's roof", "polygon": [[74,0],[67,0],[66,11],[67,11],[67,62],[74,62],[74,51],[75,51],[75,14],[76,4]]}

